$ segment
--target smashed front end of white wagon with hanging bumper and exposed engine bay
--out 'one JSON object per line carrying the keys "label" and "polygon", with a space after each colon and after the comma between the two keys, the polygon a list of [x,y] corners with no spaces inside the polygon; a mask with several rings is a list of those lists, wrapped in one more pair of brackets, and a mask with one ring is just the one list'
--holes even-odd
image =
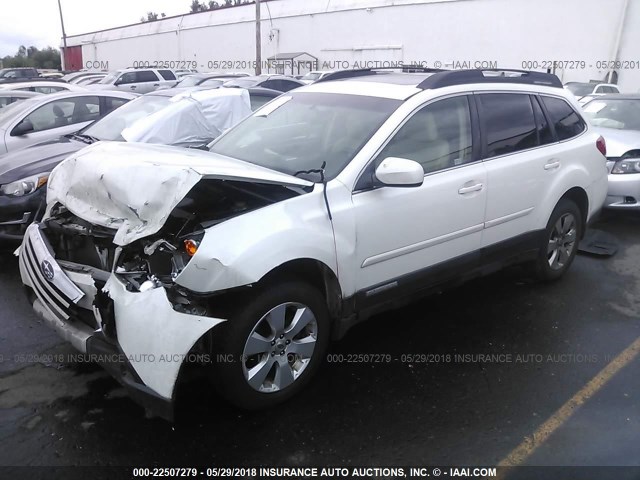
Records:
{"label": "smashed front end of white wagon with hanging bumper and exposed engine bay", "polygon": [[171,418],[181,366],[194,352],[211,358],[207,332],[226,318],[223,292],[195,292],[177,277],[208,228],[300,193],[275,183],[202,179],[160,228],[143,235],[142,220],[126,244],[117,241],[119,219],[92,223],[56,201],[27,230],[22,280],[51,327],[149,411]]}

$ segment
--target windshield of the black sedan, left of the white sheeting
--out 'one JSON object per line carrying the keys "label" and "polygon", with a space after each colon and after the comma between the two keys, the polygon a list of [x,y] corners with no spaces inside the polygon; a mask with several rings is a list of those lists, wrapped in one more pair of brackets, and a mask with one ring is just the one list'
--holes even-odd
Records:
{"label": "windshield of the black sedan, left of the white sheeting", "polygon": [[171,103],[171,97],[149,95],[136,98],[114,110],[101,120],[91,124],[82,131],[98,140],[112,140],[123,142],[122,131],[133,125],[137,120],[146,118],[152,113]]}

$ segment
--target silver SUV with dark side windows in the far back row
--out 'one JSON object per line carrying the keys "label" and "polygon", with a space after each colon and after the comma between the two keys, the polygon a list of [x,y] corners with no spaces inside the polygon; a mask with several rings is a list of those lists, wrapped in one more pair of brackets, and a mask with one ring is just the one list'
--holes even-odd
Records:
{"label": "silver SUV with dark side windows in the far back row", "polygon": [[168,68],[125,68],[111,72],[97,83],[86,87],[90,90],[121,90],[143,94],[159,87],[172,87],[176,83],[178,77]]}

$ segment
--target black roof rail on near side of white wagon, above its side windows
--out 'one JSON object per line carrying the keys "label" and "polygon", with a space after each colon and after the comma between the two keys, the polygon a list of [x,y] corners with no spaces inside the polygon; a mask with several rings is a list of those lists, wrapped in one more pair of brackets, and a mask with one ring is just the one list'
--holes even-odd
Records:
{"label": "black roof rail on near side of white wagon, above its side windows", "polygon": [[[487,75],[488,73],[488,75]],[[434,73],[422,81],[418,88],[431,88],[465,85],[468,83],[522,83],[528,85],[545,85],[563,88],[560,79],[551,73],[532,72],[528,70],[509,70],[503,68],[448,70]]]}

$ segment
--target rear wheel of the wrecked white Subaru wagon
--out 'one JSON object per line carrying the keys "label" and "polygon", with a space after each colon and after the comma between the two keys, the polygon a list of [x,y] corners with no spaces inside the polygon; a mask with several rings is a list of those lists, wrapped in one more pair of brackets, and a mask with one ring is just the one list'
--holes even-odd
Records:
{"label": "rear wheel of the wrecked white Subaru wagon", "polygon": [[582,215],[578,206],[562,199],[551,213],[535,263],[535,275],[550,282],[559,279],[569,269],[582,238]]}

